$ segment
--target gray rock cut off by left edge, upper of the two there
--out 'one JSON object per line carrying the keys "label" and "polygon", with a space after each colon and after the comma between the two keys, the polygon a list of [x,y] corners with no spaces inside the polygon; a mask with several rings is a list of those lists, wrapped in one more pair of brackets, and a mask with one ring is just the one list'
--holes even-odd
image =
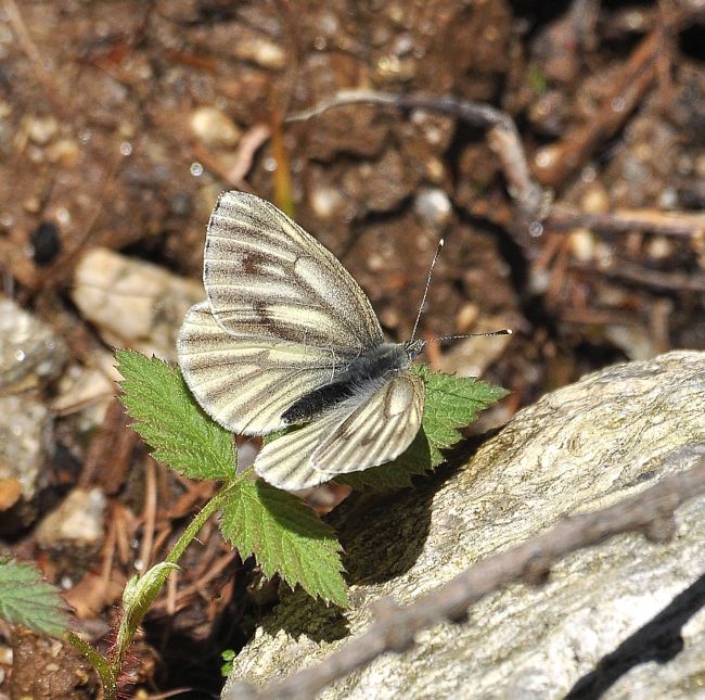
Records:
{"label": "gray rock cut off by left edge, upper of the two there", "polygon": [[34,389],[54,379],[66,361],[66,344],[54,331],[0,297],[0,394]]}

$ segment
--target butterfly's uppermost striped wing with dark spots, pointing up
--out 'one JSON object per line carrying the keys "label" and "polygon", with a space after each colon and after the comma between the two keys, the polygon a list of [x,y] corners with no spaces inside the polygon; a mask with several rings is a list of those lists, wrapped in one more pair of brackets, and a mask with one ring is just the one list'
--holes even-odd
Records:
{"label": "butterfly's uppermost striped wing with dark spots, pointing up", "polygon": [[252,194],[220,195],[204,283],[218,322],[239,338],[325,347],[343,358],[383,341],[368,297],[333,254]]}

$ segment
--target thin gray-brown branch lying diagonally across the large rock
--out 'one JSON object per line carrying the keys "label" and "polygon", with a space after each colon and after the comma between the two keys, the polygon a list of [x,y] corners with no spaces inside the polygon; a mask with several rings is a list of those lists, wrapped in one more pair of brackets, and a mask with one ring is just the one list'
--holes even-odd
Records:
{"label": "thin gray-brown branch lying diagonally across the large rock", "polygon": [[610,508],[565,518],[544,534],[473,564],[411,606],[400,608],[390,599],[382,599],[375,606],[376,621],[368,632],[346,642],[321,663],[262,689],[240,682],[223,697],[226,700],[310,698],[382,653],[408,649],[420,631],[443,620],[461,622],[472,604],[512,582],[543,583],[551,565],[569,552],[629,532],[642,533],[653,542],[667,542],[676,532],[674,511],[703,493],[705,458],[695,467]]}

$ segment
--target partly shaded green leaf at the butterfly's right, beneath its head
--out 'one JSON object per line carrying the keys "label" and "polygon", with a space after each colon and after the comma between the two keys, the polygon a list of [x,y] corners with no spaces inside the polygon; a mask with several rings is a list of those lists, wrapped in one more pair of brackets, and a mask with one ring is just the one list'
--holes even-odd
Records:
{"label": "partly shaded green leaf at the butterfly's right, beneath its head", "polygon": [[356,489],[410,486],[414,474],[423,474],[445,461],[440,450],[461,438],[460,428],[472,423],[480,410],[509,393],[501,386],[472,377],[432,372],[425,365],[414,365],[411,371],[418,373],[426,384],[423,420],[414,441],[394,461],[337,476],[335,481]]}

